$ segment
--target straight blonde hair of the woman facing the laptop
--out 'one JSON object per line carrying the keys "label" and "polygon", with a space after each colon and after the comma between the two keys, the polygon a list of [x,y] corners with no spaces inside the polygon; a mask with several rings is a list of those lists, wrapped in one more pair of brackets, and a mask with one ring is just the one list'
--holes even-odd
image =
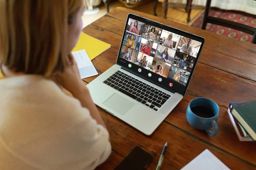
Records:
{"label": "straight blonde hair of the woman facing the laptop", "polygon": [[0,63],[45,77],[64,71],[67,27],[83,0],[0,0]]}

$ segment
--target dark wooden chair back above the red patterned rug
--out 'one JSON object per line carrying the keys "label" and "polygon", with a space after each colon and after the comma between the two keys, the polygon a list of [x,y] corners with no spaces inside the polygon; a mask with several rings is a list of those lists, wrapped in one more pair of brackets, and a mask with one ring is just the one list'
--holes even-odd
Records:
{"label": "dark wooden chair back above the red patterned rug", "polygon": [[233,29],[245,32],[247,34],[253,35],[252,43],[256,44],[256,28],[253,28],[251,26],[247,26],[247,25],[244,25],[241,23],[236,23],[233,21],[209,16],[211,2],[212,2],[212,0],[207,0],[207,2],[206,2],[205,11],[204,11],[204,20],[203,20],[201,29],[205,30],[207,23],[212,23],[212,24],[219,25],[219,26],[233,28]]}

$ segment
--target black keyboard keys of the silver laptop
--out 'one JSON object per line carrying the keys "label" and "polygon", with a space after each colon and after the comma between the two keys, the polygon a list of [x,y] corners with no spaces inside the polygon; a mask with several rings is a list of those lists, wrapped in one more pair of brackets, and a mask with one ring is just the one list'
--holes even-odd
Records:
{"label": "black keyboard keys of the silver laptop", "polygon": [[160,109],[171,97],[169,94],[135,79],[122,71],[116,71],[103,83],[130,96],[155,111],[158,111],[158,109]]}

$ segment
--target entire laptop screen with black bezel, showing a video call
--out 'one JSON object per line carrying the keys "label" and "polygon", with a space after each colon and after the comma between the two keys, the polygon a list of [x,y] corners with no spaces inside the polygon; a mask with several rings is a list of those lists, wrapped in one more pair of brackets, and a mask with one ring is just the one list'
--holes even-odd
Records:
{"label": "entire laptop screen with black bezel, showing a video call", "polygon": [[117,63],[157,85],[183,93],[202,44],[201,37],[129,14]]}

